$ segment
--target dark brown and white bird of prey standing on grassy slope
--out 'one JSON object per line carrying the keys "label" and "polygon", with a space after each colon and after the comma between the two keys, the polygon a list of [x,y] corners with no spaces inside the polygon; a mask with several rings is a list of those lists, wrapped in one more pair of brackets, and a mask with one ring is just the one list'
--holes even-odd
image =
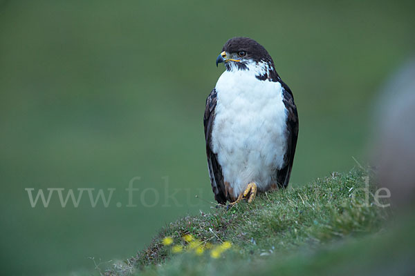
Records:
{"label": "dark brown and white bird of prey standing on grassy slope", "polygon": [[216,59],[225,72],[206,99],[206,154],[219,204],[251,202],[286,188],[293,168],[298,115],[293,93],[257,41],[229,39]]}

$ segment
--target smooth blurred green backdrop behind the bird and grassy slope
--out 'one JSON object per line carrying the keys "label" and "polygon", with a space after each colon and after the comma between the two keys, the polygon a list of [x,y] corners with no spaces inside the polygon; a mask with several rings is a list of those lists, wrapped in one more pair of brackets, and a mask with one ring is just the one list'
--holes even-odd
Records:
{"label": "smooth blurred green backdrop behind the bird and grassy slope", "polygon": [[[293,186],[349,170],[352,156],[365,157],[376,91],[414,51],[414,9],[414,1],[0,1],[1,274],[92,269],[88,257],[124,259],[169,221],[209,210],[194,198],[213,201],[202,117],[223,72],[214,61],[234,36],[264,45],[293,90]],[[138,206],[127,208],[133,177]],[[162,177],[178,204],[163,206]],[[92,208],[86,192],[78,208],[62,208],[56,193],[48,208],[32,208],[25,188],[116,191],[108,208]]]}

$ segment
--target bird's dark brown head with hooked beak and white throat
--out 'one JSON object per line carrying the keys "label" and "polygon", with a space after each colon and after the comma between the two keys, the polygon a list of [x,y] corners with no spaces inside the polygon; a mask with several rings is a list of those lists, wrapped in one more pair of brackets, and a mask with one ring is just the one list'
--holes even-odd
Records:
{"label": "bird's dark brown head with hooked beak and white throat", "polygon": [[234,37],[226,41],[221,54],[216,59],[216,66],[225,63],[226,70],[256,70],[264,75],[274,70],[274,61],[267,50],[254,39]]}

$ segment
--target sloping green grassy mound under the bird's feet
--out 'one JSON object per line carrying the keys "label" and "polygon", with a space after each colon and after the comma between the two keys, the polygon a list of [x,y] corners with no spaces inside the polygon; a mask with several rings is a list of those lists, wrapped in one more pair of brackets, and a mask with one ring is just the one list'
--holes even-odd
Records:
{"label": "sloping green grassy mound under the bird's feet", "polygon": [[[373,197],[365,204],[365,193],[358,190],[365,188],[365,177],[362,170],[333,173],[307,186],[261,194],[252,204],[237,204],[229,210],[212,207],[210,213],[183,217],[163,228],[135,257],[100,271],[105,275],[228,275],[247,273],[252,266],[261,265],[264,271],[293,274],[315,264],[316,269],[329,269],[324,258],[333,250],[330,246],[378,233],[388,217],[389,208],[374,205]],[[373,189],[370,185],[368,190],[373,193]],[[183,239],[185,235],[192,235],[201,247],[213,244],[215,248],[225,241],[232,247],[219,258],[210,255],[212,248],[197,255]],[[172,237],[173,244],[163,245],[165,237]],[[174,245],[183,246],[184,253],[172,253]],[[313,258],[299,255],[319,250],[321,257],[314,257],[315,263]],[[336,254],[333,261],[341,262],[348,253]],[[302,268],[296,264],[300,259]],[[320,259],[322,263],[317,265]]]}

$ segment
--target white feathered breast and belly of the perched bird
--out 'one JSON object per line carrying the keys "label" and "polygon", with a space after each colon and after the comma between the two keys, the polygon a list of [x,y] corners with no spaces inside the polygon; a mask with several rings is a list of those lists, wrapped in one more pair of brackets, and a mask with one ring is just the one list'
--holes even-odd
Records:
{"label": "white feathered breast and belly of the perched bird", "polygon": [[286,152],[286,108],[278,82],[259,81],[254,70],[225,71],[216,83],[212,151],[234,197],[255,182],[272,184]]}

